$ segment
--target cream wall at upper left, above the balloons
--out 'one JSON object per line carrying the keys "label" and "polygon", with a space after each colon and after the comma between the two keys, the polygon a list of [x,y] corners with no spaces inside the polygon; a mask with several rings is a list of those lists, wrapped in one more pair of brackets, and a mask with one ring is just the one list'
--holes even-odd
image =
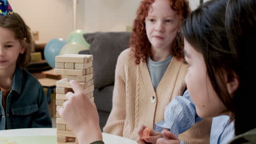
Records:
{"label": "cream wall at upper left, above the balloons", "polygon": [[[37,43],[66,38],[73,31],[73,0],[8,0],[32,31],[39,31]],[[79,1],[77,28],[84,27],[84,1]]]}

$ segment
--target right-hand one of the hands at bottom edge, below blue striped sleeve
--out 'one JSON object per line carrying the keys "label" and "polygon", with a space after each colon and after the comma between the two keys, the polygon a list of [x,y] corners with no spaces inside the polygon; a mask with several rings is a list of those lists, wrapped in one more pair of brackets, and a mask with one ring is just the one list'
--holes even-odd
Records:
{"label": "right-hand one of the hands at bottom edge, below blue striped sleeve", "polygon": [[162,138],[158,139],[156,141],[156,144],[179,144],[181,141],[179,141],[178,137],[174,135],[171,131],[167,129],[162,130]]}

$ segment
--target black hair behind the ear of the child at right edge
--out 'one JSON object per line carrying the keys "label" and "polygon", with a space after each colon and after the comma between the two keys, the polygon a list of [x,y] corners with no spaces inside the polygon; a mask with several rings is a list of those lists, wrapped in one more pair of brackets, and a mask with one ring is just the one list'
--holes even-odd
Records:
{"label": "black hair behind the ear of the child at right edge", "polygon": [[226,32],[232,52],[237,55],[235,73],[240,77],[240,87],[232,100],[231,112],[235,119],[235,134],[256,128],[255,113],[255,35],[256,1],[230,0],[226,8]]}

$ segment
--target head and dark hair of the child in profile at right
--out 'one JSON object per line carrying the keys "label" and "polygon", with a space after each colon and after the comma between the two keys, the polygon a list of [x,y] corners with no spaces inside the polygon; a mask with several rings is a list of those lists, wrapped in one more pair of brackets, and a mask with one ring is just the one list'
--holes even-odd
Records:
{"label": "head and dark hair of the child in profile at right", "polygon": [[[256,2],[230,0],[226,19],[208,13],[200,15],[200,10],[194,11],[182,27],[185,60],[189,65],[185,82],[196,112],[202,118],[230,116],[234,121],[235,135],[240,135],[231,143],[255,143],[253,111],[256,97],[250,82],[256,80],[252,71],[256,66],[255,49],[251,49],[256,34]],[[198,21],[192,22],[193,19]],[[211,27],[212,30],[194,30],[199,26]],[[208,39],[214,39],[215,43]],[[206,88],[205,91],[201,90],[202,87]]]}

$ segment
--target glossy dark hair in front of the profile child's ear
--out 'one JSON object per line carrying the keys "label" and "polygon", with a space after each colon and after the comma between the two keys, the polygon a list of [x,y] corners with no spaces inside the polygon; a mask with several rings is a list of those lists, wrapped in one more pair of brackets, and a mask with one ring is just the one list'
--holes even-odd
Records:
{"label": "glossy dark hair in front of the profile child's ear", "polygon": [[203,3],[184,21],[182,33],[188,43],[202,53],[214,91],[227,109],[231,109],[232,96],[226,89],[224,73],[231,74],[236,64],[225,31],[227,3],[228,0]]}

